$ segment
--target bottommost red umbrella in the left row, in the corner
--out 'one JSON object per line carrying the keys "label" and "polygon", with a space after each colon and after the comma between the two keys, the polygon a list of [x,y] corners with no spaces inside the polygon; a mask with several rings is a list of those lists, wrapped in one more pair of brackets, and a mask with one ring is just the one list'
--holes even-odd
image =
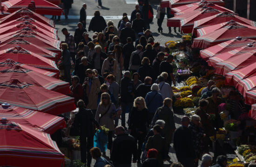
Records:
{"label": "bottommost red umbrella in the left row, in the corner", "polygon": [[2,118],[0,135],[0,166],[64,166],[64,154],[45,132]]}

